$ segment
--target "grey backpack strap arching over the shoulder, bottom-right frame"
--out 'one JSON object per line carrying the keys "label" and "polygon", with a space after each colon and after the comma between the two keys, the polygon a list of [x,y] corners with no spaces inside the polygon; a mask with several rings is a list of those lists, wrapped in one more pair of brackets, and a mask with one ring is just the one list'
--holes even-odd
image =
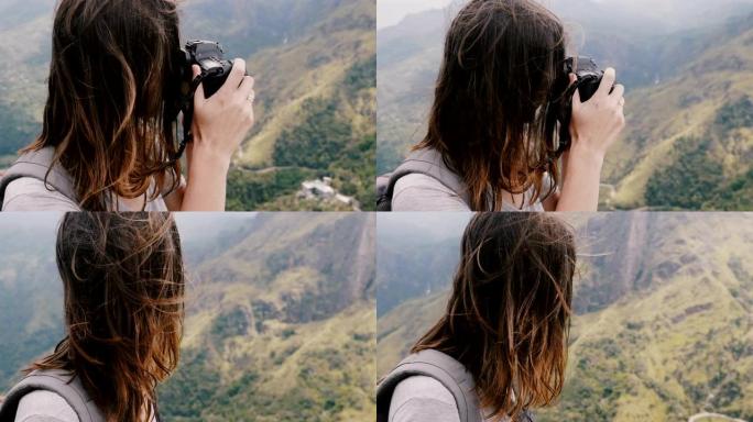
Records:
{"label": "grey backpack strap arching over the shoulder, bottom-right frame", "polygon": [[408,377],[426,376],[441,382],[455,397],[460,422],[482,422],[473,377],[452,357],[423,351],[401,362],[376,387],[376,422],[388,422],[390,402],[397,385]]}

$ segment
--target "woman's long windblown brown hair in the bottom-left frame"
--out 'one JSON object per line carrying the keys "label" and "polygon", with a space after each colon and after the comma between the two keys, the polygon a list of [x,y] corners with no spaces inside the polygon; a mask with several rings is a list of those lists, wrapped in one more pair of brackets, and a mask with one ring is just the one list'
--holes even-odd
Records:
{"label": "woman's long windblown brown hair in the bottom-left frame", "polygon": [[56,260],[67,335],[28,371],[70,371],[108,422],[151,420],[179,358],[182,256],[170,214],[65,215]]}

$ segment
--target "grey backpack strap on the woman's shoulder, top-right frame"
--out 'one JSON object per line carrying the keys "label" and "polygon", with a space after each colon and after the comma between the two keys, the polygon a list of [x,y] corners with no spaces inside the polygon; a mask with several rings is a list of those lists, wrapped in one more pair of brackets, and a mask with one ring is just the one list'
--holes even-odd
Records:
{"label": "grey backpack strap on the woman's shoulder, top-right frame", "polygon": [[395,184],[412,174],[432,177],[454,191],[466,203],[469,202],[466,185],[458,175],[447,168],[441,155],[435,149],[421,149],[411,153],[393,173],[376,178],[376,211],[392,211]]}

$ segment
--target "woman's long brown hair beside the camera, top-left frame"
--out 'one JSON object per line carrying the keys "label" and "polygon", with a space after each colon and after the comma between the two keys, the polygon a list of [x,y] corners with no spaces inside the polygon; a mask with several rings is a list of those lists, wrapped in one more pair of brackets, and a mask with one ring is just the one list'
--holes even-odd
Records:
{"label": "woman's long brown hair beside the camera, top-left frame", "polygon": [[55,147],[83,209],[177,187],[167,98],[179,43],[174,1],[59,1],[42,134],[24,151]]}

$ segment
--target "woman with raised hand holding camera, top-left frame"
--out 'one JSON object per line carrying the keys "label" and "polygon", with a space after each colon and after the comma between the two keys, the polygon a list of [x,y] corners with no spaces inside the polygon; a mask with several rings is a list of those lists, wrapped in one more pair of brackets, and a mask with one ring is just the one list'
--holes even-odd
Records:
{"label": "woman with raised hand holding camera, top-left frame", "polygon": [[196,92],[186,182],[174,160],[175,1],[61,0],[52,45],[42,134],[20,159],[46,176],[7,178],[3,210],[225,210],[231,156],[254,121],[242,59],[210,99]]}

